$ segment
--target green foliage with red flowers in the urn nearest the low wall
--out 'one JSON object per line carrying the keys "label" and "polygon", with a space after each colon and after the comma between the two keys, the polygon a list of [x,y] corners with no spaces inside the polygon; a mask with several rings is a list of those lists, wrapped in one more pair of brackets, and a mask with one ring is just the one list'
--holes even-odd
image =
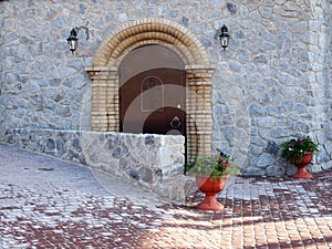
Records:
{"label": "green foliage with red flowers in the urn nearest the low wall", "polygon": [[229,155],[219,152],[211,156],[197,156],[194,163],[186,165],[190,175],[211,176],[218,179],[224,175],[240,175],[239,167],[230,163]]}

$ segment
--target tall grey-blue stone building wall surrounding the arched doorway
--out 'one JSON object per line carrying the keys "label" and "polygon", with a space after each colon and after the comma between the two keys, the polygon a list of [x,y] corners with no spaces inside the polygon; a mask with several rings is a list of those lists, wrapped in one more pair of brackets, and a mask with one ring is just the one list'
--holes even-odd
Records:
{"label": "tall grey-blue stone building wall surrounding the arched doorway", "polygon": [[[189,29],[216,65],[211,147],[245,174],[283,175],[279,144],[320,143],[313,170],[332,167],[331,3],[318,1],[0,1],[0,139],[14,128],[89,131],[91,80],[84,71],[123,23],[164,18]],[[230,43],[216,39],[222,24]],[[74,54],[66,38],[79,33]]]}

